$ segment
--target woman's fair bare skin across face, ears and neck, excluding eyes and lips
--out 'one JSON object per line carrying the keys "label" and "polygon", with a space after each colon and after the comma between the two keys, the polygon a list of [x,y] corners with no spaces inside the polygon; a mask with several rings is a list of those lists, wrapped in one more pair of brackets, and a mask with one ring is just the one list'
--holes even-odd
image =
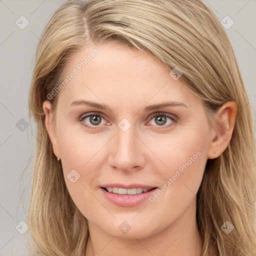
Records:
{"label": "woman's fair bare skin across face, ears and neck, excluding eyes and lips", "polygon": [[[53,128],[50,102],[43,102],[45,126],[56,157],[61,158],[67,189],[87,218],[90,237],[85,256],[94,255],[200,255],[202,239],[195,221],[196,192],[207,159],[219,156],[230,141],[233,127],[214,129],[207,121],[202,100],[188,91],[181,79],[155,57],[116,42],[87,45],[65,67],[73,68],[93,51],[99,53],[59,92],[56,127]],[[182,77],[182,76],[181,76]],[[112,111],[85,104],[86,99],[104,103]],[[167,100],[185,106],[166,106],[147,112],[147,105]],[[102,115],[99,125],[83,113]],[[153,113],[172,114],[159,125]],[[234,123],[237,108],[228,101],[217,111],[216,123]],[[126,118],[131,127],[123,131],[118,123]],[[91,129],[85,127],[86,123]],[[172,123],[171,126],[168,125]],[[200,156],[153,202],[131,207],[108,201],[99,186],[103,183],[141,183],[160,188],[196,152]],[[67,178],[75,169],[80,178]],[[126,221],[130,230],[118,226]]]}

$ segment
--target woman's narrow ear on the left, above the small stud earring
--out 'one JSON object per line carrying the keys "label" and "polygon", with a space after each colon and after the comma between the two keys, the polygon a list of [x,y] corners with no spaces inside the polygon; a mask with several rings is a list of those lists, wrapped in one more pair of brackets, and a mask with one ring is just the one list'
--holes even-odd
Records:
{"label": "woman's narrow ear on the left, above the small stud earring", "polygon": [[55,130],[53,127],[52,122],[52,113],[50,112],[51,109],[51,103],[49,100],[44,100],[42,103],[43,112],[45,114],[45,126],[52,144],[52,149],[56,157],[60,158],[59,150],[58,150],[58,144],[56,139]]}

